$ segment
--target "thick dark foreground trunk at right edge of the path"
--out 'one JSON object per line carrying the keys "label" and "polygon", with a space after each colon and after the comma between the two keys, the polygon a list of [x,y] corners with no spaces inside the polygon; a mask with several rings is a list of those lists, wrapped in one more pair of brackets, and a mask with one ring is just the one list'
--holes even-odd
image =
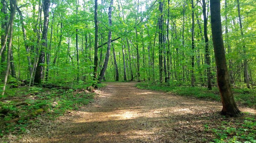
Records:
{"label": "thick dark foreground trunk at right edge of the path", "polygon": [[221,3],[220,0],[210,0],[212,41],[217,66],[217,83],[221,93],[222,111],[221,114],[239,116],[240,110],[234,101],[234,96],[229,83],[229,74],[225,57],[224,43],[222,38],[221,25]]}

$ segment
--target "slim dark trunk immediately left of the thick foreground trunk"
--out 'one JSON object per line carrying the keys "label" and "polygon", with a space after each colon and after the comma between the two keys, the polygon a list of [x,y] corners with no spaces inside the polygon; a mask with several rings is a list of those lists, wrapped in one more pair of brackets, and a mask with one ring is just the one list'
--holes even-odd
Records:
{"label": "slim dark trunk immediately left of the thick foreground trunk", "polygon": [[203,15],[204,15],[204,42],[205,42],[205,59],[207,64],[207,88],[208,90],[212,90],[211,87],[211,67],[210,67],[210,52],[209,52],[209,39],[207,35],[207,16],[206,16],[206,3],[203,0]]}

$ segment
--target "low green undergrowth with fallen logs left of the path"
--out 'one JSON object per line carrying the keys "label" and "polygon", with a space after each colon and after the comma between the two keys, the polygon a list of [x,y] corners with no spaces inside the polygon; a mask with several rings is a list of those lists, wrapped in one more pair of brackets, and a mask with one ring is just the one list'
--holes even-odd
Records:
{"label": "low green undergrowth with fallen logs left of the path", "polygon": [[[43,108],[44,115],[48,119],[54,120],[70,110],[78,110],[81,106],[93,101],[94,93],[86,91],[86,84],[65,83],[62,86],[68,86],[72,89],[64,90],[58,88],[44,88],[43,84],[39,86],[27,86],[19,88],[8,88],[4,98],[19,97],[22,98],[0,101],[0,111],[6,110],[7,114],[0,114],[0,122],[6,122],[15,118],[24,117],[32,112]],[[103,87],[105,84],[98,84]],[[22,104],[21,104],[22,103]],[[41,115],[38,115],[41,116]],[[19,120],[18,124],[8,128],[0,128],[0,138],[9,132],[22,134],[27,131],[29,124],[37,123],[38,120]],[[8,126],[8,124],[5,124]]]}

